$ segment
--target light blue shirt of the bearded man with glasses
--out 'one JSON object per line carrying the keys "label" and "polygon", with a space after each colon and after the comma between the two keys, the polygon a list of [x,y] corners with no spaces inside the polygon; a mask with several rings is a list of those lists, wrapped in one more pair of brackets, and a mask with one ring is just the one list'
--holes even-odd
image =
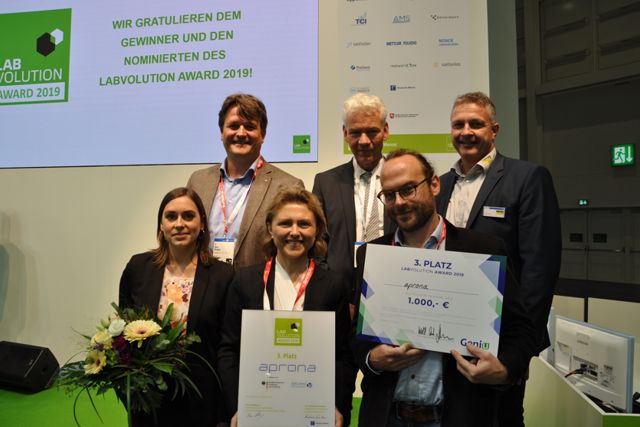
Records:
{"label": "light blue shirt of the bearded man with glasses", "polygon": [[[444,227],[444,220],[440,217],[438,226],[424,245],[426,249],[436,249]],[[394,240],[397,246],[404,245],[400,229],[396,230]],[[439,250],[444,250],[445,240]],[[398,372],[394,400],[415,405],[440,405],[443,399],[442,353],[427,351],[418,363]]]}

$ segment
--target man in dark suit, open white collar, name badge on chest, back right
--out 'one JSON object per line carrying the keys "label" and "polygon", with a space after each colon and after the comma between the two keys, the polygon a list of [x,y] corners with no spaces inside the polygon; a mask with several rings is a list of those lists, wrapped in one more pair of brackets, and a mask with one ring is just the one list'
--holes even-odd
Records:
{"label": "man in dark suit, open white collar, name badge on chest, back right", "polygon": [[[560,213],[549,171],[499,154],[495,106],[481,92],[456,98],[451,140],[460,154],[441,176],[438,212],[457,227],[501,238],[536,328],[536,350],[549,345],[547,319],[560,272]],[[500,424],[523,426],[523,380],[501,404]]]}

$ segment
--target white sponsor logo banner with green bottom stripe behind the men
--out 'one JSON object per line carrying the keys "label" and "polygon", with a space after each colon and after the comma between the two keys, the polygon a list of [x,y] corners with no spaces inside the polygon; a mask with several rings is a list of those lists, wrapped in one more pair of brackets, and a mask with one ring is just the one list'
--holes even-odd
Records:
{"label": "white sponsor logo banner with green bottom stripe behind the men", "polygon": [[410,148],[440,172],[451,167],[453,100],[489,91],[486,2],[339,0],[339,17],[342,99],[380,96],[389,112],[384,151]]}

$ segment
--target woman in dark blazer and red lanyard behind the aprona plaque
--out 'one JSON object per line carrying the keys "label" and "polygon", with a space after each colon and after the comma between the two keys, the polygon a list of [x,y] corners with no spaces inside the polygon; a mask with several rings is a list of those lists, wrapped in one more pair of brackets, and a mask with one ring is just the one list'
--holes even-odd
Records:
{"label": "woman in dark blazer and red lanyard behind the aprona plaque", "polygon": [[[320,202],[306,190],[282,190],[269,208],[266,225],[270,238],[265,254],[269,260],[236,272],[225,307],[218,366],[227,411],[235,414],[238,408],[243,309],[334,311],[336,425],[348,426],[356,375],[349,347],[349,296],[340,279],[313,260],[327,250],[321,238],[327,223]],[[236,422],[234,416],[231,426]]]}

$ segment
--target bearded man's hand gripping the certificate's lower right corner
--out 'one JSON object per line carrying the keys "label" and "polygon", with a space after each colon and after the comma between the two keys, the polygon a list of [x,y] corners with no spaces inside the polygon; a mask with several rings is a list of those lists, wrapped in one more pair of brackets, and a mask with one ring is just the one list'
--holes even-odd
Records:
{"label": "bearded man's hand gripping the certificate's lower right corner", "polygon": [[506,366],[493,354],[475,345],[467,344],[467,350],[473,356],[466,360],[460,353],[451,350],[456,359],[458,372],[474,384],[504,384],[509,378]]}

